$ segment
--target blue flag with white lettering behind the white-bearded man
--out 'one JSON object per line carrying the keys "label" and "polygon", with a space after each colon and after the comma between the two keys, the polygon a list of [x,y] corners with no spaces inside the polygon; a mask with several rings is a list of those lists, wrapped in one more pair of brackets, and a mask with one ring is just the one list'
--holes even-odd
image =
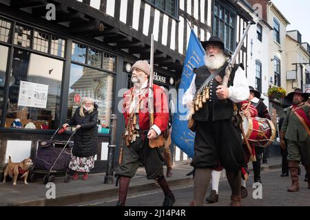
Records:
{"label": "blue flag with white lettering behind the white-bearded man", "polygon": [[205,50],[203,50],[194,30],[192,30],[189,36],[187,53],[180,81],[177,112],[174,113],[174,118],[172,120],[172,141],[191,158],[194,156],[195,133],[187,128],[186,115],[188,110],[183,106],[182,98],[192,82],[194,76],[193,69],[205,64],[204,56]]}

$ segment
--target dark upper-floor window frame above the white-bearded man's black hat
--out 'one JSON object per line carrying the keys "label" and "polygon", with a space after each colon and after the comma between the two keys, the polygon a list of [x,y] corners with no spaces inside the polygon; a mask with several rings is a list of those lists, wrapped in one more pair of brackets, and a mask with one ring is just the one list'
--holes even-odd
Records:
{"label": "dark upper-floor window frame above the white-bearded man's black hat", "polygon": [[[214,13],[214,8],[216,8],[216,5],[219,5],[220,8],[223,8],[223,17],[220,18],[218,14]],[[224,42],[225,45],[225,50],[233,53],[234,50],[236,49],[236,28],[237,28],[237,14],[236,11],[231,8],[229,5],[227,5],[226,3],[222,3],[218,0],[214,1],[213,5],[212,5],[212,36],[218,36],[220,37],[220,39],[222,39],[222,41]],[[219,12],[219,11],[218,11]],[[227,21],[225,21],[225,14],[226,12],[229,12],[230,17],[229,17],[229,23],[227,23]],[[230,18],[232,17],[232,23],[233,25],[230,24]],[[216,19],[219,19],[218,21],[218,25],[214,25],[214,23],[216,22]],[[220,22],[223,22],[223,34],[220,33]],[[218,27],[217,27],[218,26]],[[231,41],[233,42],[233,45],[230,45],[230,48],[227,47],[224,36],[225,36],[225,30],[227,28],[227,26],[229,27],[229,44],[231,44]],[[216,34],[216,28],[218,28],[218,34]],[[233,29],[234,33],[233,35],[231,35],[231,29]],[[222,35],[222,36],[221,36]],[[234,39],[231,39],[231,36],[234,36]]]}

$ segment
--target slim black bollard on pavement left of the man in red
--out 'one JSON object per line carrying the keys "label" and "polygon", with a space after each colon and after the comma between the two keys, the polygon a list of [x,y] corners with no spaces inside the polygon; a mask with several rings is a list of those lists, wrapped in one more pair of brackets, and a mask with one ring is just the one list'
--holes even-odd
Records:
{"label": "slim black bollard on pavement left of the man in red", "polygon": [[113,184],[114,182],[114,154],[115,154],[115,148],[116,148],[116,122],[117,122],[117,115],[112,114],[111,115],[111,123],[110,123],[110,141],[107,151],[107,171],[105,173],[105,184]]}

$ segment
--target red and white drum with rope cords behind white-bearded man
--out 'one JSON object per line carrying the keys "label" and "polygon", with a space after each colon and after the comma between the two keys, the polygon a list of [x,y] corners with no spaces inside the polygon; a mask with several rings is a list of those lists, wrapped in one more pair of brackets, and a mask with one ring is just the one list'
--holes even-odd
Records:
{"label": "red and white drum with rope cords behind white-bearded man", "polygon": [[242,126],[249,144],[255,146],[267,147],[276,137],[276,128],[273,122],[267,118],[246,118],[243,116]]}

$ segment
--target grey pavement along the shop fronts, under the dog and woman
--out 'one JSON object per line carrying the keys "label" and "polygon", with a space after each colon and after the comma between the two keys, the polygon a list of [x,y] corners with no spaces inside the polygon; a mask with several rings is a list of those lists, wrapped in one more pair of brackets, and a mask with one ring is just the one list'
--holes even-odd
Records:
{"label": "grey pavement along the shop fronts, under the dog and woman", "polygon": [[[262,164],[261,169],[262,171],[279,169],[281,162],[281,157],[269,157],[268,163]],[[250,172],[253,170],[251,163],[249,163],[249,170]],[[172,177],[167,178],[169,186],[178,187],[193,184],[192,176],[186,175],[192,171],[192,166],[189,166],[188,161],[176,162],[172,171]],[[225,174],[225,172],[222,173]],[[85,181],[80,175],[78,180],[71,180],[69,183],[64,181],[64,177],[56,177],[54,184],[47,185],[43,184],[42,179],[38,179],[37,182],[29,182],[28,185],[19,180],[17,186],[13,186],[12,181],[7,181],[4,184],[0,183],[0,206],[70,206],[76,203],[116,197],[118,187],[115,184],[104,184],[104,177],[105,173],[96,173],[89,175],[89,179]],[[225,175],[221,176],[221,179],[225,179]],[[53,188],[55,188],[54,194]],[[130,182],[128,196],[159,188],[160,186],[155,184],[154,180],[146,179],[145,170],[141,167],[138,168]],[[48,199],[50,197],[52,199]]]}

